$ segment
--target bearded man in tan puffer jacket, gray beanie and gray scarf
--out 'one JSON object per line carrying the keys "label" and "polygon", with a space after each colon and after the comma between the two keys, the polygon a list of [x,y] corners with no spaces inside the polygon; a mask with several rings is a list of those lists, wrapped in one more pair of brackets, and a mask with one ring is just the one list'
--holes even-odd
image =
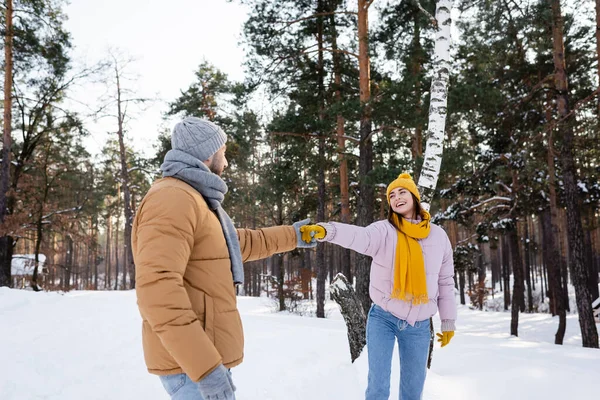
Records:
{"label": "bearded man in tan puffer jacket, gray beanie and gray scarf", "polygon": [[227,185],[225,132],[186,118],[133,224],[136,294],[144,357],[172,399],[235,399],[230,368],[243,359],[235,284],[243,262],[296,247],[300,226],[235,229],[221,207]]}

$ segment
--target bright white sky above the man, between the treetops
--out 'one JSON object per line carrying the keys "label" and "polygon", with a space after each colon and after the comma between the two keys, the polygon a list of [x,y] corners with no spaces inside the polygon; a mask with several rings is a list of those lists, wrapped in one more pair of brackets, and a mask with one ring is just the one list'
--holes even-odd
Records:
{"label": "bright white sky above the man, between the treetops", "polygon": [[[70,0],[64,9],[65,27],[72,36],[73,58],[77,64],[93,64],[117,49],[132,57],[128,82],[141,97],[156,98],[152,106],[135,114],[127,136],[144,155],[153,154],[167,102],[194,81],[194,72],[203,60],[214,64],[231,80],[244,78],[244,52],[238,43],[246,19],[246,8],[226,0]],[[77,87],[71,97],[94,103],[103,87]],[[174,121],[166,126],[170,127]],[[98,154],[115,131],[115,122],[88,121],[91,137],[86,147]]]}

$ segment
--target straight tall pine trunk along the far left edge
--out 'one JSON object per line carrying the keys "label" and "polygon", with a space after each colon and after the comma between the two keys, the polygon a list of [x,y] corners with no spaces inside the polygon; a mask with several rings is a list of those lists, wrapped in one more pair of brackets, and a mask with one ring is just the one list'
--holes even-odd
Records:
{"label": "straight tall pine trunk along the far left edge", "polygon": [[[6,1],[6,32],[4,35],[4,130],[2,136],[2,164],[0,166],[0,225],[8,210],[10,186],[10,156],[12,148],[12,86],[13,86],[13,2]],[[0,237],[0,286],[11,286],[13,238]]]}

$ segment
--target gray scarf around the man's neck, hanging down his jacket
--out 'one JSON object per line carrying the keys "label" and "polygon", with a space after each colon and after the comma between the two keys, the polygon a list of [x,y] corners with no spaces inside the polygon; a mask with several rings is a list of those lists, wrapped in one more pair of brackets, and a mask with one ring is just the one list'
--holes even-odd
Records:
{"label": "gray scarf around the man's neck, hanging down his jacket", "polygon": [[233,221],[221,207],[227,193],[227,184],[221,177],[213,174],[202,161],[181,150],[169,150],[160,169],[163,177],[172,176],[196,189],[204,197],[208,206],[217,213],[229,250],[233,282],[243,284],[244,264],[237,231]]}

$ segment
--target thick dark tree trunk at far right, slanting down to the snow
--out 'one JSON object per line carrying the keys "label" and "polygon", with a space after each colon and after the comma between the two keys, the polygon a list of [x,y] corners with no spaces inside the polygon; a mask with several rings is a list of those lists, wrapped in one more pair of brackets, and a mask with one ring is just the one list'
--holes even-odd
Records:
{"label": "thick dark tree trunk at far right, slanting down to the snow", "polygon": [[583,249],[583,228],[579,209],[576,167],[573,158],[573,118],[570,117],[568,77],[565,64],[563,26],[560,0],[552,0],[552,39],[554,46],[554,82],[557,91],[558,115],[561,119],[559,131],[562,136],[561,162],[567,206],[567,233],[569,242],[569,266],[575,286],[577,311],[583,347],[598,348],[598,330],[592,313],[592,297],[588,288],[585,255]]}

